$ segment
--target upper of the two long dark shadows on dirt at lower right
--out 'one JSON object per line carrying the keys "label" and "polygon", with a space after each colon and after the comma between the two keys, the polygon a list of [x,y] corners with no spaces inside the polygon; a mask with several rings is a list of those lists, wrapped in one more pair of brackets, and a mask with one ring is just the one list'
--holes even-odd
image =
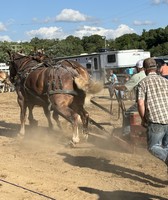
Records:
{"label": "upper of the two long dark shadows on dirt at lower right", "polygon": [[67,153],[59,153],[59,155],[64,156],[63,160],[72,166],[108,172],[114,175],[118,175],[119,177],[145,183],[153,187],[162,188],[168,184],[167,181],[163,181],[143,172],[132,170],[116,164],[111,164],[111,160],[107,160],[105,158],[96,158],[93,156],[72,156]]}

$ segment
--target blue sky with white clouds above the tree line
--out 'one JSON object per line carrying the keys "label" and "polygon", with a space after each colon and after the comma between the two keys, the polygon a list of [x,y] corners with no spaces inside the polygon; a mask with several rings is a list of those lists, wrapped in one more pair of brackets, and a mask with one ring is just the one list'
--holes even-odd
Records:
{"label": "blue sky with white clouds above the tree line", "polygon": [[0,41],[126,33],[168,25],[168,0],[0,0]]}

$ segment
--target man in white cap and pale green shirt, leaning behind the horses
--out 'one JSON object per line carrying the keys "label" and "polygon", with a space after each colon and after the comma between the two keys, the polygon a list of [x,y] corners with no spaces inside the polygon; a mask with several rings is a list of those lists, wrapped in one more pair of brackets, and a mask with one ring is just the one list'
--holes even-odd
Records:
{"label": "man in white cap and pale green shirt, leaning behind the horses", "polygon": [[[136,94],[136,88],[138,83],[146,77],[146,74],[144,72],[143,68],[143,60],[139,60],[136,63],[136,69],[137,73],[131,76],[131,78],[124,84],[124,85],[117,85],[115,86],[115,89],[121,90],[121,91],[132,91],[135,90]],[[130,114],[132,112],[138,112],[137,103],[133,104],[126,112],[125,116],[123,118],[123,136],[128,136],[131,128],[130,128]]]}

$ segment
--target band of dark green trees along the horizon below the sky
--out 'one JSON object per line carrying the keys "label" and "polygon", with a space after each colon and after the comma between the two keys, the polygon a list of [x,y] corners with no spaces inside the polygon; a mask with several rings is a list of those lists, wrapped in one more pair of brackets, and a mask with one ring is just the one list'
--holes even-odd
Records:
{"label": "band of dark green trees along the horizon below the sky", "polygon": [[7,62],[7,49],[22,51],[27,55],[40,49],[51,58],[56,58],[98,52],[105,46],[111,50],[144,49],[150,51],[151,56],[168,55],[168,26],[149,31],[143,30],[141,36],[135,33],[125,34],[115,40],[107,40],[100,35],[84,36],[82,39],[70,35],[63,40],[35,37],[30,42],[0,42],[0,62]]}

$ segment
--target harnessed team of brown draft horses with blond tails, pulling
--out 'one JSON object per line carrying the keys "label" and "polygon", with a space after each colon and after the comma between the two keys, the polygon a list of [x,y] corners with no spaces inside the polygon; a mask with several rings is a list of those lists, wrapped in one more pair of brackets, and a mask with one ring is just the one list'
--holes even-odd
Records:
{"label": "harnessed team of brown draft horses with blond tails, pulling", "polygon": [[87,70],[76,61],[60,61],[46,66],[30,56],[8,52],[10,56],[10,80],[15,85],[20,106],[20,135],[25,134],[25,115],[29,108],[29,123],[34,124],[33,107],[40,105],[52,128],[53,118],[64,117],[72,123],[73,143],[79,142],[78,117],[81,117],[83,132],[88,134],[89,114],[84,109],[86,92],[91,88]]}

